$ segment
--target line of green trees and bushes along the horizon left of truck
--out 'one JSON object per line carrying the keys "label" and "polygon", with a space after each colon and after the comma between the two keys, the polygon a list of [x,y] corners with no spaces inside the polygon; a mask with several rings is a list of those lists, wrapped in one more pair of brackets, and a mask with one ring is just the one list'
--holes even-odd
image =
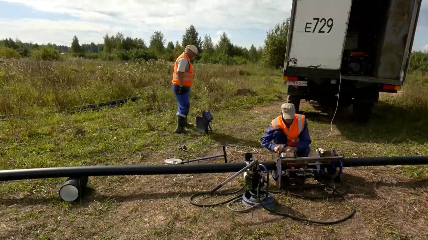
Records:
{"label": "line of green trees and bushes along the horizon left of truck", "polygon": [[[192,60],[199,63],[213,64],[247,64],[249,62],[261,62],[269,67],[281,67],[285,56],[285,47],[288,36],[289,19],[276,24],[267,32],[264,46],[258,49],[251,45],[249,49],[238,46],[223,32],[219,41],[214,44],[210,35],[199,36],[199,32],[190,25],[184,32],[181,41],[166,43],[163,32],[154,31],[150,38],[125,37],[122,32],[115,35],[104,36],[104,43],[80,44],[77,36],[71,40],[70,46],[48,43],[23,43],[16,38],[0,40],[0,46],[9,48],[0,50],[1,55],[14,55],[32,57],[40,60],[59,60],[63,55],[74,57],[103,59],[103,60],[166,60],[174,61],[185,46],[193,44],[198,48],[198,55]],[[13,49],[14,52],[10,52]],[[8,53],[1,53],[1,52]],[[16,52],[16,53],[15,53]],[[18,54],[18,55],[17,55]]]}

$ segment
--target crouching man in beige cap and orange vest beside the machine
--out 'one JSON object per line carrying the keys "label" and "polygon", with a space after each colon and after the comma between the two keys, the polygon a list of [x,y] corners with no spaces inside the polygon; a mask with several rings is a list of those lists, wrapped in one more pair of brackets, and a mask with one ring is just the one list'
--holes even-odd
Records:
{"label": "crouching man in beige cap and orange vest beside the machine", "polygon": [[311,137],[305,116],[296,114],[294,105],[290,103],[282,104],[281,110],[282,114],[272,120],[260,143],[276,153],[294,150],[297,157],[309,156]]}

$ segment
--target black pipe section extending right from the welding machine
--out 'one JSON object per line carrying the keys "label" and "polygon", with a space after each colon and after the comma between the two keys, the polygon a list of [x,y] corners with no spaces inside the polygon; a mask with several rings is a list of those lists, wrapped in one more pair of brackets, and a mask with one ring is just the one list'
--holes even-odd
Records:
{"label": "black pipe section extending right from the welding machine", "polygon": [[428,156],[345,158],[343,167],[428,165]]}

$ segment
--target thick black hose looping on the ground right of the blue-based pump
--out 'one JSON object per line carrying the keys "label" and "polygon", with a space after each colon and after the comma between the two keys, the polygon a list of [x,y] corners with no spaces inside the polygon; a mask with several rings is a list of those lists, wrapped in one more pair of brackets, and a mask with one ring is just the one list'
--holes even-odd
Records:
{"label": "thick black hose looping on the ground right of the blue-based pump", "polygon": [[[269,174],[269,172],[268,172],[268,170],[265,168],[265,171],[266,171],[266,174]],[[317,171],[315,171],[315,169],[314,170],[306,170],[306,169],[304,169],[303,171],[307,171],[307,172],[310,172],[310,173],[313,173],[313,174],[315,174],[315,175],[318,175],[318,176],[320,176],[319,174],[318,174],[318,172]],[[324,171],[324,170],[321,170],[321,171],[323,171],[323,172],[325,172],[325,173],[327,173],[326,171]],[[327,175],[330,177],[330,179],[333,181],[333,178],[327,173]],[[321,179],[321,178],[320,178]],[[334,182],[334,181],[333,181]],[[330,184],[329,183],[327,183],[327,185],[329,185],[330,186]],[[293,219],[293,220],[300,220],[300,221],[304,221],[304,222],[309,222],[309,223],[316,223],[316,224],[324,224],[324,225],[331,225],[331,224],[337,224],[337,223],[341,223],[341,222],[343,222],[343,221],[345,221],[345,220],[348,220],[349,218],[351,218],[352,216],[354,216],[354,214],[355,214],[355,212],[357,211],[356,209],[355,209],[355,205],[354,205],[354,203],[352,203],[351,201],[349,201],[342,193],[340,193],[339,191],[337,191],[337,189],[336,189],[336,187],[335,186],[330,186],[330,188],[332,188],[332,190],[333,190],[333,194],[336,192],[337,194],[339,194],[339,196],[340,197],[342,197],[344,200],[346,200],[347,202],[349,202],[351,205],[352,205],[352,212],[350,213],[350,214],[348,214],[347,216],[345,216],[345,217],[343,217],[343,218],[341,218],[341,219],[339,219],[339,220],[334,220],[334,221],[320,221],[320,220],[310,220],[310,219],[307,219],[307,218],[303,218],[303,217],[298,217],[298,216],[296,216],[296,215],[291,215],[291,214],[286,214],[286,213],[282,213],[282,212],[277,212],[277,211],[273,211],[273,210],[270,210],[269,208],[267,208],[264,204],[263,204],[263,202],[262,202],[262,200],[260,199],[260,189],[262,188],[262,179],[260,178],[259,179],[259,185],[258,185],[258,187],[257,187],[257,200],[259,201],[259,203],[260,203],[260,205],[262,206],[262,208],[264,208],[266,211],[269,211],[270,213],[272,213],[272,214],[276,214],[276,215],[280,215],[280,216],[284,216],[284,217],[290,217],[291,219]],[[283,193],[283,192],[280,192],[280,191],[270,191],[271,193]],[[287,193],[285,193],[285,194],[287,194]],[[291,195],[291,194],[289,194],[289,195]],[[297,195],[297,194],[292,194],[293,196],[298,196],[298,197],[303,197],[303,196],[299,196],[299,195]]]}

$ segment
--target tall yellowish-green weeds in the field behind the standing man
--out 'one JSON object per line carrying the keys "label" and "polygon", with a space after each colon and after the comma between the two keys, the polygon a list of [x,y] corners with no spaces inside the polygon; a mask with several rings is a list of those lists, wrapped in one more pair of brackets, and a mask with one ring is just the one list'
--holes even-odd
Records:
{"label": "tall yellowish-green weeds in the field behind the standing man", "polygon": [[[147,111],[160,111],[175,99],[171,90],[172,63],[143,61],[3,60],[0,62],[0,115],[31,115],[117,98],[140,96]],[[195,64],[192,103],[211,110],[264,102],[281,95],[279,71],[259,65]],[[250,98],[236,96],[239,88],[255,90]],[[273,88],[275,89],[275,88]],[[230,101],[229,101],[230,100]]]}

